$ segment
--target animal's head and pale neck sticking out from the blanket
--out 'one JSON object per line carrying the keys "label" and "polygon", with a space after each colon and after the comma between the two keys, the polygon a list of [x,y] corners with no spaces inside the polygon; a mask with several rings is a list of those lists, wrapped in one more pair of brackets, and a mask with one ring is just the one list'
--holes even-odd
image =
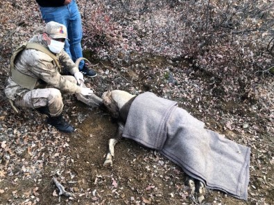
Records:
{"label": "animal's head and pale neck sticking out from the blanket", "polygon": [[108,90],[103,93],[103,105],[105,105],[113,118],[119,118],[119,111],[121,107],[123,107],[123,105],[125,105],[128,100],[133,97],[133,95],[126,91]]}

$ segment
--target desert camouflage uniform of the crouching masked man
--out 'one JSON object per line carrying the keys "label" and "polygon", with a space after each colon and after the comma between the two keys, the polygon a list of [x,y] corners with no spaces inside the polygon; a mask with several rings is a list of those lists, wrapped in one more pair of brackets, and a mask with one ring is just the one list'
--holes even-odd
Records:
{"label": "desert camouflage uniform of the crouching masked man", "polygon": [[[29,42],[42,44],[45,47],[47,45],[42,35],[33,37]],[[76,64],[65,51],[56,54],[56,57],[72,75],[78,71]],[[74,76],[60,75],[60,69],[53,59],[41,51],[25,49],[19,53],[15,60],[15,69],[25,75],[39,78],[38,82],[40,82],[35,85],[35,89],[30,91],[13,81],[12,77],[8,78],[6,96],[14,100],[15,105],[19,107],[37,109],[47,106],[51,116],[59,116],[63,107],[60,91],[80,93],[81,89],[76,84]]]}

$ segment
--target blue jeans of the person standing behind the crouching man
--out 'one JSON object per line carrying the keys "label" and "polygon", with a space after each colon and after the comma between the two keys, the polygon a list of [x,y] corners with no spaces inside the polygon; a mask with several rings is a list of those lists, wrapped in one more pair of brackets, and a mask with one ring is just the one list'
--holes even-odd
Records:
{"label": "blue jeans of the person standing behind the crouching man", "polygon": [[[75,62],[79,57],[83,57],[81,40],[83,37],[82,22],[76,1],[73,0],[66,6],[60,7],[40,7],[42,19],[44,21],[55,21],[67,26],[67,35],[64,50]],[[81,60],[79,69],[83,69],[85,62]]]}

